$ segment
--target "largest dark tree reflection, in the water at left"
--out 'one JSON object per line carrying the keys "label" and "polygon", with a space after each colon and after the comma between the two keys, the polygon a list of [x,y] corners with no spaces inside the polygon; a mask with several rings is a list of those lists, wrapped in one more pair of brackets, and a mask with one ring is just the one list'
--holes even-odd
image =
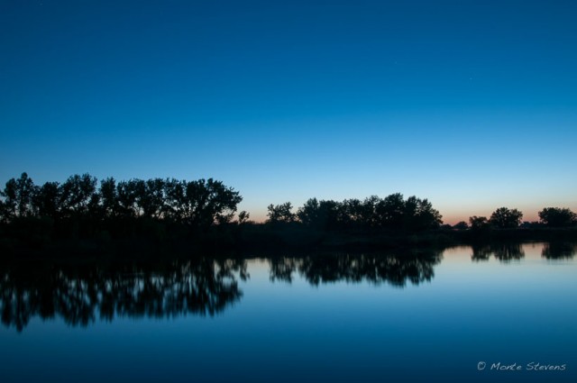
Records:
{"label": "largest dark tree reflection, in the water at left", "polygon": [[13,267],[0,276],[2,323],[20,332],[35,315],[83,326],[96,317],[215,315],[240,300],[236,278],[248,274],[244,260],[203,258],[114,268]]}

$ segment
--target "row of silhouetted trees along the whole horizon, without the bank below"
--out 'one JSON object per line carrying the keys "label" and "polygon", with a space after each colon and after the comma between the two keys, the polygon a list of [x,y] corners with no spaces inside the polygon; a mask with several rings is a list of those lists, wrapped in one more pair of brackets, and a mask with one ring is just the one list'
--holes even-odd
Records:
{"label": "row of silhouetted trees along the whole horizon, without the bank below", "polygon": [[[105,178],[98,181],[84,174],[71,176],[63,183],[46,182],[37,186],[23,173],[20,178],[8,180],[0,190],[0,223],[37,219],[56,227],[59,237],[78,236],[78,231],[84,237],[104,232],[123,237],[134,235],[129,232],[140,223],[151,225],[139,229],[139,235],[153,233],[162,238],[164,233],[173,233],[172,237],[187,236],[192,233],[187,228],[194,231],[196,228],[232,227],[228,223],[258,229],[260,225],[249,221],[250,214],[245,211],[234,220],[237,205],[242,200],[233,187],[213,178],[195,181],[175,178],[117,181]],[[296,211],[289,202],[269,205],[267,221],[262,226],[263,230],[298,226],[313,229],[309,231],[314,233],[348,230],[357,233],[417,233],[439,228],[482,232],[493,228],[517,228],[522,224],[522,217],[523,214],[515,208],[499,207],[490,217],[472,216],[469,223],[444,225],[442,215],[427,199],[417,196],[405,198],[396,193],[384,198],[370,196],[342,202],[310,198]],[[545,207],[539,212],[539,218],[540,225],[549,227],[577,224],[577,214],[568,208]],[[41,235],[51,230],[34,227],[32,229],[40,231]],[[23,225],[10,233],[0,231],[0,236],[18,233],[24,238],[32,229],[30,225]]]}

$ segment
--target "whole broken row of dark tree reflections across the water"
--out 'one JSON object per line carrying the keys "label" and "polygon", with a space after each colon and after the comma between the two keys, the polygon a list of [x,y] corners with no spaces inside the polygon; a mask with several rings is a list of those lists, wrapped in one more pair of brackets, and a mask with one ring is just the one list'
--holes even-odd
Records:
{"label": "whole broken row of dark tree reflections across the water", "polygon": [[[574,242],[545,243],[543,257],[570,259]],[[472,246],[472,260],[490,257],[521,260],[521,244]],[[270,257],[270,280],[291,283],[304,278],[314,286],[338,281],[405,287],[435,277],[442,251],[386,254],[315,254]],[[198,258],[148,264],[68,264],[0,268],[2,323],[21,332],[32,317],[62,317],[69,325],[86,326],[116,317],[215,315],[240,301],[238,279],[248,278],[247,260]]]}

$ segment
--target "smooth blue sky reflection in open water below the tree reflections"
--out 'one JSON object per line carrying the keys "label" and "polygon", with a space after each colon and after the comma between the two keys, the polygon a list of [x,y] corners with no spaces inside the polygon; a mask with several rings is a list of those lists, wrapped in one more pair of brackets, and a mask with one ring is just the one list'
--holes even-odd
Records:
{"label": "smooth blue sky reflection in open water below the tree reflections", "polygon": [[[3,381],[574,381],[574,259],[472,261],[444,251],[430,282],[270,281],[249,260],[240,302],[214,317],[114,318],[86,328],[36,318],[0,327]],[[477,363],[567,364],[567,370],[477,371]]]}

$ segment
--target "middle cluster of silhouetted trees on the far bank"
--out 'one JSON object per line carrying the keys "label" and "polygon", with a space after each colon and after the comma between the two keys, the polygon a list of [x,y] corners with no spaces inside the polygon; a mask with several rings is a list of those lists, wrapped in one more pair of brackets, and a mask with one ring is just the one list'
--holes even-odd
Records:
{"label": "middle cluster of silhouetted trees on the far bank", "polygon": [[400,193],[384,198],[370,196],[363,201],[345,199],[309,199],[305,205],[292,212],[292,205],[269,205],[268,223],[298,221],[323,230],[341,228],[386,228],[422,231],[439,227],[442,215],[426,200],[416,196],[404,199]]}

